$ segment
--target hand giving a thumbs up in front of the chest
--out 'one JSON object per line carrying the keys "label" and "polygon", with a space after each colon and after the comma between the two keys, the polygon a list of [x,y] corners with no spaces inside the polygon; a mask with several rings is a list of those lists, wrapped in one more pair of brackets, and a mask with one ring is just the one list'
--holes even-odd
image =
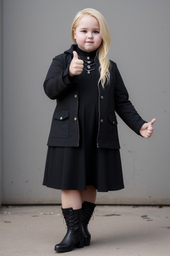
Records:
{"label": "hand giving a thumbs up in front of the chest", "polygon": [[73,77],[74,75],[80,75],[83,71],[84,61],[82,59],[78,59],[78,54],[76,51],[73,51],[73,58],[70,62],[70,67],[68,71],[68,75]]}

